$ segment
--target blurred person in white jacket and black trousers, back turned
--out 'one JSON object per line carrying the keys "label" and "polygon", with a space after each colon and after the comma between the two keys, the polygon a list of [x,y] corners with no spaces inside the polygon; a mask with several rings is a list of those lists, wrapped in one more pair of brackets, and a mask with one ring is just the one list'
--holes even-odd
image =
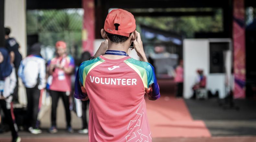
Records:
{"label": "blurred person in white jacket and black trousers, back turned", "polygon": [[[41,90],[46,86],[45,61],[41,57],[41,45],[34,44],[29,49],[29,56],[21,61],[18,70],[18,76],[22,79],[27,92],[27,115],[25,119],[26,127],[32,134],[40,134],[39,122],[37,119],[39,113],[39,100]],[[38,123],[37,123],[38,122]]]}

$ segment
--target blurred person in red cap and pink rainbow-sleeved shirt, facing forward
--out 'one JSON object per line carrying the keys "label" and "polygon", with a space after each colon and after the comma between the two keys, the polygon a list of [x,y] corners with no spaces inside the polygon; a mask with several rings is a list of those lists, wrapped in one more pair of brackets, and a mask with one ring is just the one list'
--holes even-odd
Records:
{"label": "blurred person in red cap and pink rainbow-sleeved shirt, facing forward", "polygon": [[68,56],[66,51],[66,43],[58,41],[55,45],[56,56],[50,61],[48,67],[49,75],[52,75],[52,83],[50,85],[50,94],[52,96],[52,126],[50,133],[56,133],[56,114],[59,97],[62,98],[66,114],[67,131],[73,133],[71,127],[71,112],[69,110],[69,97],[71,92],[71,74],[74,71],[75,62],[72,56]]}

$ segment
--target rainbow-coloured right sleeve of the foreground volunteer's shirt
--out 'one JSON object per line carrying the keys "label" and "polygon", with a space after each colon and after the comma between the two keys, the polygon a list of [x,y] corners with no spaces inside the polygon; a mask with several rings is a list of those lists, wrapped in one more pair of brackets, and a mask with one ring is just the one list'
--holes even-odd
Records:
{"label": "rainbow-coloured right sleeve of the foreground volunteer's shirt", "polygon": [[156,100],[160,98],[154,67],[147,62],[138,61],[133,58],[129,58],[124,62],[141,77],[145,87],[145,94],[149,99]]}

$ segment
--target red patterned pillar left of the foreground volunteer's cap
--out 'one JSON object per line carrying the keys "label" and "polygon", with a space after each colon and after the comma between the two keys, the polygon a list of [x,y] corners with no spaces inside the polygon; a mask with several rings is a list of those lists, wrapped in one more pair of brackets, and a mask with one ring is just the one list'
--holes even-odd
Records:
{"label": "red patterned pillar left of the foreground volunteer's cap", "polygon": [[82,46],[83,51],[89,51],[93,54],[93,43],[95,37],[95,16],[94,16],[94,0],[83,0],[84,21],[82,31]]}

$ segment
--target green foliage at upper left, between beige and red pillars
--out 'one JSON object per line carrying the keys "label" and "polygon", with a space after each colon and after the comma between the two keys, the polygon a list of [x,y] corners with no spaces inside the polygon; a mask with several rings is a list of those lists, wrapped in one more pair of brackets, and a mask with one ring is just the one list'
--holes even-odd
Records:
{"label": "green foliage at upper left, between beige and red pillars", "polygon": [[77,46],[81,49],[83,9],[28,10],[27,34],[39,35],[39,42],[53,46],[59,40],[67,43],[69,51]]}

